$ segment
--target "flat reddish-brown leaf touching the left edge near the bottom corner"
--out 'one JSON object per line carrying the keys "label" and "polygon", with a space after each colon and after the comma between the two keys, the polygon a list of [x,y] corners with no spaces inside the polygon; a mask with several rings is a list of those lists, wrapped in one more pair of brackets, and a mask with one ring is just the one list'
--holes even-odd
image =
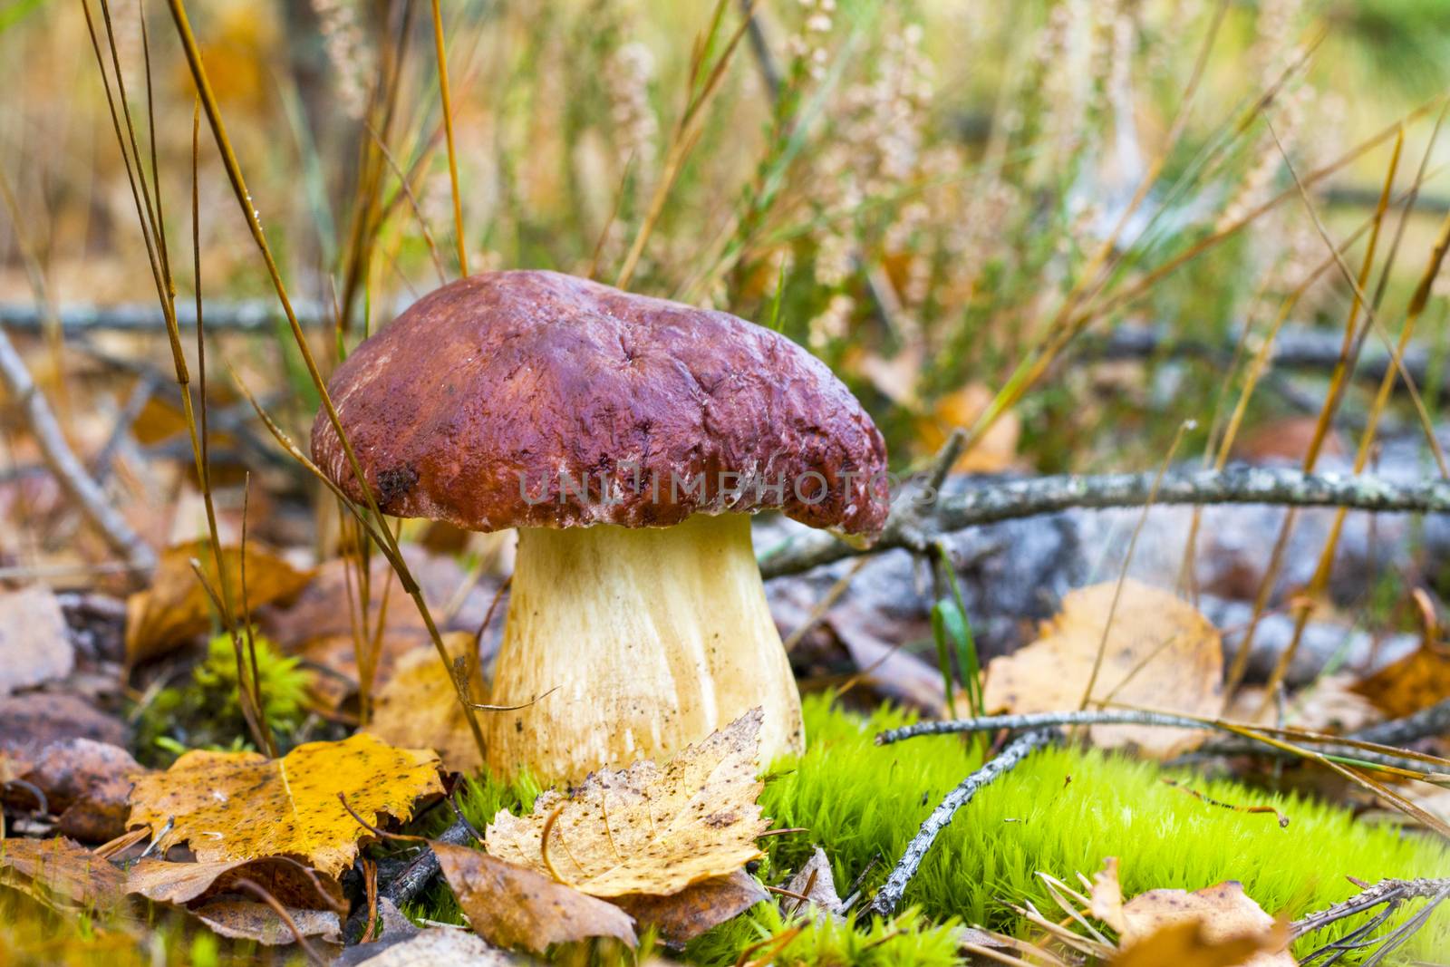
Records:
{"label": "flat reddish-brown leaf touching the left edge near the bottom corner", "polygon": [[74,839],[0,839],[0,886],[54,909],[115,909],[125,881],[120,870]]}

